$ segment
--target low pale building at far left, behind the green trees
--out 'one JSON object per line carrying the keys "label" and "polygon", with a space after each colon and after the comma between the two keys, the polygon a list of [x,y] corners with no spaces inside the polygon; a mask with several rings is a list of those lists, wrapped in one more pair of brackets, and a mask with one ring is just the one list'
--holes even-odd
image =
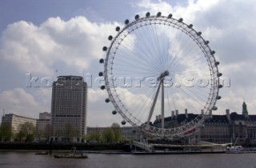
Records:
{"label": "low pale building at far left, behind the green trees", "polygon": [[37,120],[35,118],[27,118],[16,114],[5,114],[2,116],[2,123],[10,124],[13,134],[17,134],[21,130],[22,124],[26,122],[30,122],[36,126]]}

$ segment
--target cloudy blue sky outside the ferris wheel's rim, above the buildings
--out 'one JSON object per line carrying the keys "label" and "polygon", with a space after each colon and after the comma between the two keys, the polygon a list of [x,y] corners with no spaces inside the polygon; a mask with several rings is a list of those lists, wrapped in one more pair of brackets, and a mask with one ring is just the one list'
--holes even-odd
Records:
{"label": "cloudy blue sky outside the ferris wheel's rim, above the buildings", "polygon": [[[214,114],[226,109],[256,114],[256,2],[254,0],[2,0],[0,2],[0,114],[38,118],[50,112],[51,87],[44,79],[80,75],[90,79],[87,126],[110,126],[122,117],[112,115],[106,90],[99,89],[98,63],[105,58],[102,46],[134,15],[173,14],[194,25],[210,41],[220,62],[224,87]],[[38,77],[30,86],[30,78]],[[96,82],[94,82],[96,80]],[[228,82],[230,81],[230,82]]]}

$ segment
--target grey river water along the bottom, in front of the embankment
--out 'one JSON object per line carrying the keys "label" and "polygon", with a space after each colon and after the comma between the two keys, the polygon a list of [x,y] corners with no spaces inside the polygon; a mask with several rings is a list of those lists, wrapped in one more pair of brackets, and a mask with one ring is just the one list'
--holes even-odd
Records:
{"label": "grey river water along the bottom, in front of the embankment", "polygon": [[256,154],[88,154],[53,158],[34,152],[0,152],[0,168],[256,168]]}

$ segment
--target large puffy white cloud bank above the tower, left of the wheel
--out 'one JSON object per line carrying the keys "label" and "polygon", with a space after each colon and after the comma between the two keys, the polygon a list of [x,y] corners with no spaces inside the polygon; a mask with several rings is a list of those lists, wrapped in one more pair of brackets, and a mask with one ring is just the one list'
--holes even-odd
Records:
{"label": "large puffy white cloud bank above the tower, left of the wheel", "polygon": [[40,26],[15,22],[1,38],[2,61],[24,73],[52,74],[56,69],[81,72],[102,58],[102,46],[118,23],[95,23],[79,16],[49,18]]}

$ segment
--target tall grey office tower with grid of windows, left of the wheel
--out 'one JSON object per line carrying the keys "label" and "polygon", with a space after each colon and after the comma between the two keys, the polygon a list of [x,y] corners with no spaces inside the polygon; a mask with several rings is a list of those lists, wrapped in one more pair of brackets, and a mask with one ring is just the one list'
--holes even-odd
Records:
{"label": "tall grey office tower with grid of windows, left of the wheel", "polygon": [[86,134],[87,85],[80,76],[59,76],[53,83],[51,123],[55,140],[80,142]]}

